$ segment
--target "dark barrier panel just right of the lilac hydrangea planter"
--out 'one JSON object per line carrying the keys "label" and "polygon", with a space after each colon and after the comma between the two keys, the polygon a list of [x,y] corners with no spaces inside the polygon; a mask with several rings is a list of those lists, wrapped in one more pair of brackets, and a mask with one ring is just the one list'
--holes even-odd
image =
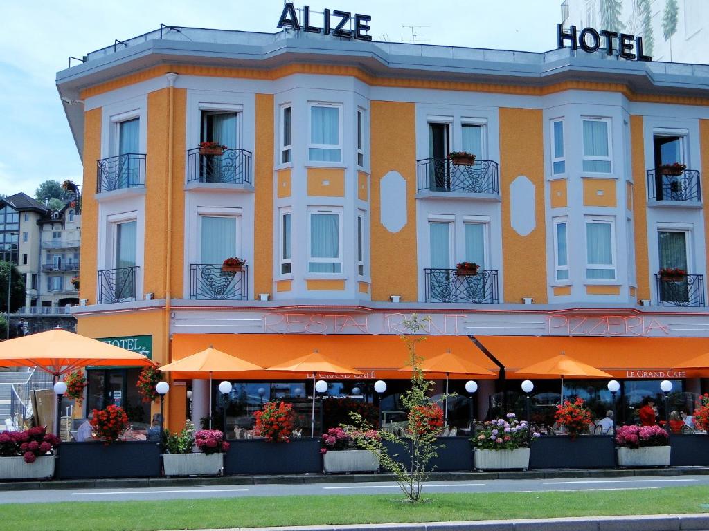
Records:
{"label": "dark barrier panel just right of the lilac hydrangea planter", "polygon": [[530,469],[615,468],[613,435],[542,435],[530,450]]}

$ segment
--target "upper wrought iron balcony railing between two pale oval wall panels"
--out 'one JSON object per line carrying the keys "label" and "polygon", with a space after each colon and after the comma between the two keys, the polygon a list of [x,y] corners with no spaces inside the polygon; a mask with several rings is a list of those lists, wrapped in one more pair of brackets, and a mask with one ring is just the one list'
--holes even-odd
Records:
{"label": "upper wrought iron balcony railing between two pale oval wall panels", "polygon": [[418,168],[418,191],[499,194],[498,166],[495,161],[476,160],[465,166],[450,159],[421,159]]}

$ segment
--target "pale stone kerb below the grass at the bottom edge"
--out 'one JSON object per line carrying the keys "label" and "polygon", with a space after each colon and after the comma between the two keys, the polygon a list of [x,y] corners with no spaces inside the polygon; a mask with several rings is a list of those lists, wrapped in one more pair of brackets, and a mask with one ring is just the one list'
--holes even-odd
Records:
{"label": "pale stone kerb below the grass at the bottom edge", "polygon": [[[708,531],[709,514],[599,516],[430,522],[420,524],[313,525],[309,527],[240,527],[199,531]],[[196,530],[193,530],[196,531]]]}

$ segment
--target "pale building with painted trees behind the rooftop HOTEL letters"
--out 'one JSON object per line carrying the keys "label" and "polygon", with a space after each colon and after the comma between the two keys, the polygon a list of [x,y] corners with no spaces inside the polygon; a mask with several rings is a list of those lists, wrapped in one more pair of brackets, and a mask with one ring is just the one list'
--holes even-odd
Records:
{"label": "pale building with painted trees behind the rooftop HOTEL letters", "polygon": [[[676,15],[669,17],[676,18],[676,31],[666,39],[667,4],[668,0],[564,0],[562,24],[575,25],[579,31],[591,27],[640,35],[644,52],[653,61],[709,63],[709,2],[676,0]],[[610,8],[613,5],[618,8]]]}

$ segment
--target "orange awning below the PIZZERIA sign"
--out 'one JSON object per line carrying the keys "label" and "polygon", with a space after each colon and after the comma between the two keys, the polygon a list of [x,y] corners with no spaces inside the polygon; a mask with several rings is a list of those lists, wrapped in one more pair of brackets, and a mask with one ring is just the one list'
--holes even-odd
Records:
{"label": "orange awning below the PIZZERIA sign", "polygon": [[[676,369],[681,362],[709,350],[708,338],[632,338],[568,336],[476,336],[504,365],[508,378],[527,365],[565,352],[616,378],[673,379],[709,375]],[[549,376],[557,378],[557,376]],[[537,376],[542,378],[542,376]]]}

